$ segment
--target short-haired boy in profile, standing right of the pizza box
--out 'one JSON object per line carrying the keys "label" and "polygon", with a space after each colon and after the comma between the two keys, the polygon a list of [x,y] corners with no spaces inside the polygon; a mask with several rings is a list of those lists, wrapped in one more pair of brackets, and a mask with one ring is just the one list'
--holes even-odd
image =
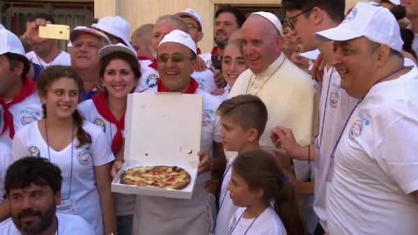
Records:
{"label": "short-haired boy in profile, standing right of the pizza box", "polygon": [[[227,151],[242,154],[261,150],[258,140],[265,129],[268,111],[260,98],[254,95],[238,95],[226,99],[217,109],[217,115],[221,117],[222,125],[219,136]],[[222,179],[215,235],[226,234],[229,231],[229,220],[238,209],[227,190],[231,181],[231,165],[235,158],[236,156],[233,156],[229,159]]]}

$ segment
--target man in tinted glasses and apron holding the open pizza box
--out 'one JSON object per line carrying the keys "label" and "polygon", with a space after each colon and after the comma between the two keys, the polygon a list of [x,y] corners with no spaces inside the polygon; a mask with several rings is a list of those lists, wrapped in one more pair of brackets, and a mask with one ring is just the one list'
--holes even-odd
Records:
{"label": "man in tinted glasses and apron holding the open pizza box", "polygon": [[[137,196],[132,234],[209,234],[216,216],[215,196],[204,188],[210,172],[222,171],[225,167],[216,97],[198,89],[199,83],[192,79],[196,63],[196,43],[189,34],[173,30],[164,36],[156,51],[160,79],[157,86],[146,92],[180,92],[203,95],[203,120],[199,175],[196,178],[191,200],[165,197]],[[217,152],[217,156],[213,156]],[[116,165],[116,163],[115,163]]]}

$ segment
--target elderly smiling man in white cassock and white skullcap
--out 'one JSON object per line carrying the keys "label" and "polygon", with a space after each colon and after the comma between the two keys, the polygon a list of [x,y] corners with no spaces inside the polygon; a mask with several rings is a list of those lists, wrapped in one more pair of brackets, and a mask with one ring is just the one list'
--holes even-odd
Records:
{"label": "elderly smiling man in white cassock and white skullcap", "polygon": [[[307,145],[316,135],[318,92],[309,75],[281,53],[284,39],[272,13],[252,13],[242,25],[243,51],[249,67],[235,82],[229,97],[251,94],[268,108],[260,145],[273,147],[270,130],[278,125],[293,130],[297,143]],[[307,162],[293,161],[297,179],[310,178]]]}

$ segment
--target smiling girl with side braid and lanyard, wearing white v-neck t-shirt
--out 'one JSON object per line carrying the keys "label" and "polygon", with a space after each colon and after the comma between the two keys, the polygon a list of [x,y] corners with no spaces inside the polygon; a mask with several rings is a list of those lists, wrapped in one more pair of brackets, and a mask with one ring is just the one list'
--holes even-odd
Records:
{"label": "smiling girl with side braid and lanyard, wearing white v-neck t-shirt", "polygon": [[13,161],[48,158],[63,176],[57,211],[82,216],[98,235],[116,232],[109,174],[114,155],[103,131],[77,111],[82,79],[71,67],[55,65],[40,74],[37,88],[44,117],[17,131]]}

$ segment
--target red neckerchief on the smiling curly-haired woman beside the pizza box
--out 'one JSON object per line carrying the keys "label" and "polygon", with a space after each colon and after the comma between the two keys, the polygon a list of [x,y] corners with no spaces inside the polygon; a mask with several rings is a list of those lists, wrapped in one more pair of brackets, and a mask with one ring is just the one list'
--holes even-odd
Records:
{"label": "red neckerchief on the smiling curly-haired woman beside the pizza box", "polygon": [[100,115],[102,115],[102,117],[104,117],[107,121],[116,125],[117,131],[115,137],[111,140],[111,152],[117,154],[122,147],[122,130],[125,128],[125,112],[123,112],[121,120],[116,119],[106,104],[106,91],[104,90],[93,96],[91,99],[93,100],[93,104]]}

